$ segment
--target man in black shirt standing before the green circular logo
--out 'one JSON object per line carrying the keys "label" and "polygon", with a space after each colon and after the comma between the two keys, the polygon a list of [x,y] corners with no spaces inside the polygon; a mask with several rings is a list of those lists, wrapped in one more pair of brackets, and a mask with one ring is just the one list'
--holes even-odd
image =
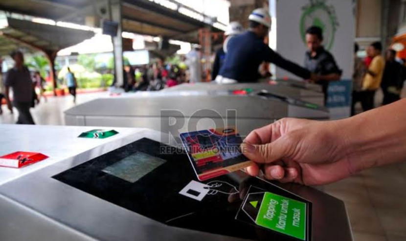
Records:
{"label": "man in black shirt standing before the green circular logo", "polygon": [[322,86],[324,104],[326,104],[329,82],[339,80],[342,71],[338,68],[333,55],[323,47],[323,30],[320,27],[311,26],[306,30],[306,43],[308,51],[305,56],[305,66],[310,72],[323,76],[316,81],[316,84]]}

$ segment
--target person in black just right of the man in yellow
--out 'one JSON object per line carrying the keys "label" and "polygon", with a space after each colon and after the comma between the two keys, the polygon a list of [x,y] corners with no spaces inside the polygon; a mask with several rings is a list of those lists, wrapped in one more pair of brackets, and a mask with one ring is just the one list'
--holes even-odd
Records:
{"label": "person in black just right of the man in yellow", "polygon": [[386,50],[385,69],[383,71],[381,88],[383,91],[382,105],[390,104],[400,99],[403,88],[404,70],[403,66],[395,60],[396,51]]}

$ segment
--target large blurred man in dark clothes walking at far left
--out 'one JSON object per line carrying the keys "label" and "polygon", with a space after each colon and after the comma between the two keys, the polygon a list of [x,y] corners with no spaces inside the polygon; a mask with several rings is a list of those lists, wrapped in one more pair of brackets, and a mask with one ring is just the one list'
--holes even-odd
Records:
{"label": "large blurred man in dark clothes walking at far left", "polygon": [[[7,107],[13,110],[13,105],[19,112],[17,124],[35,124],[30,113],[33,99],[33,85],[30,72],[24,65],[24,55],[21,51],[15,50],[10,54],[15,64],[7,72],[4,80],[4,95]],[[13,103],[10,100],[10,88],[13,89]]]}

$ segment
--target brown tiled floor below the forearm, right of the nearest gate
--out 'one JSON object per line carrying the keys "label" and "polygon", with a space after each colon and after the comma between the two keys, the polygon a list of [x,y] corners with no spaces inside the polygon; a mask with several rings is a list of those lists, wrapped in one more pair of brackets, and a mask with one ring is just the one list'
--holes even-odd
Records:
{"label": "brown tiled floor below the forearm, right of the nearest gate", "polygon": [[355,241],[406,241],[405,169],[369,169],[324,187],[345,202]]}

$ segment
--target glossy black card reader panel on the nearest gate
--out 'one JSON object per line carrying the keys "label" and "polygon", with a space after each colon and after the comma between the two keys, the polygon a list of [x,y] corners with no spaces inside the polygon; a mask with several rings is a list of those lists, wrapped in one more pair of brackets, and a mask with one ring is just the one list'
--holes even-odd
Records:
{"label": "glossy black card reader panel on the nearest gate", "polygon": [[[312,240],[311,202],[259,178],[248,177],[242,171],[200,182],[187,156],[162,155],[159,152],[165,148],[162,146],[141,139],[53,178],[170,226],[250,240]],[[136,169],[132,167],[134,165]],[[110,170],[109,173],[106,169]],[[138,180],[129,179],[130,173]],[[296,239],[236,219],[244,193],[250,186],[305,203],[308,214],[303,217],[306,238]]]}

